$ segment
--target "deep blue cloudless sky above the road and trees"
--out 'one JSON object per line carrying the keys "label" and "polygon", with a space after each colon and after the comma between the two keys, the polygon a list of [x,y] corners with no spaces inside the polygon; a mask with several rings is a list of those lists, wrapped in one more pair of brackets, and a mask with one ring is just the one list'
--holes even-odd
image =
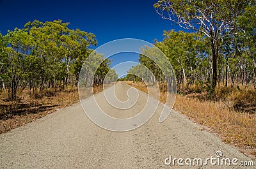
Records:
{"label": "deep blue cloudless sky above the road and trees", "polygon": [[[120,38],[136,38],[149,43],[163,40],[163,31],[175,29],[170,20],[157,15],[154,0],[129,1],[11,1],[0,0],[0,33],[6,34],[15,27],[22,29],[28,21],[53,21],[61,19],[69,22],[69,29],[93,33],[98,41],[97,47]],[[93,47],[97,48],[97,47]],[[137,61],[138,54],[119,54],[112,57],[113,64],[122,61]]]}

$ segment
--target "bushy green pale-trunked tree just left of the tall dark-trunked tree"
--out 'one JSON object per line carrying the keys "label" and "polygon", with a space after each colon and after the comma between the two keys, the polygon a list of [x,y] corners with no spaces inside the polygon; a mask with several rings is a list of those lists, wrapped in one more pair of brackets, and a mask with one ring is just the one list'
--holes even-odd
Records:
{"label": "bushy green pale-trunked tree just left of the tall dark-trunked tree", "polygon": [[198,66],[201,64],[202,40],[200,33],[184,33],[183,31],[164,31],[164,40],[156,42],[166,57],[172,63],[177,81],[185,89],[188,84],[194,84]]}

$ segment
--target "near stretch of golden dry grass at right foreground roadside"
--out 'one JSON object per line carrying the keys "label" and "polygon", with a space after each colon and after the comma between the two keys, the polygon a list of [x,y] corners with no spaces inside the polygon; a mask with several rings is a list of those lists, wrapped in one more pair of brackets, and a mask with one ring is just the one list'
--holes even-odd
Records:
{"label": "near stretch of golden dry grass at right foreground roadside", "polygon": [[177,95],[174,108],[218,133],[224,142],[231,143],[248,154],[255,154],[255,115],[229,110],[221,103],[198,101],[181,95]]}

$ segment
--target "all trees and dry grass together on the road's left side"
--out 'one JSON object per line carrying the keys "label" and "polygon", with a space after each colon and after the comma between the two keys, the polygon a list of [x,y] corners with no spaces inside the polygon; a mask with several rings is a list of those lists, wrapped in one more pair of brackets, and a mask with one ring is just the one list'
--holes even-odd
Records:
{"label": "all trees and dry grass together on the road's left side", "polygon": [[[34,20],[0,34],[0,133],[79,101],[79,72],[97,40],[68,25]],[[99,92],[111,60],[95,59],[102,63],[91,85]],[[111,70],[108,82],[116,76]]]}

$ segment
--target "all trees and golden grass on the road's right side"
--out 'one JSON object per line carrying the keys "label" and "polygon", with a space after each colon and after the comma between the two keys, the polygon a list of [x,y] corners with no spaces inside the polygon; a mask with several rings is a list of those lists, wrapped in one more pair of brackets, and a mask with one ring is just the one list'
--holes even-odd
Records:
{"label": "all trees and golden grass on the road's right side", "polygon": [[[170,24],[189,30],[164,31],[163,41],[155,42],[175,71],[175,110],[256,157],[255,1],[163,0],[154,8]],[[144,47],[139,62],[154,74],[165,102],[168,79],[145,54],[155,54]],[[121,80],[147,92],[140,67]]]}

